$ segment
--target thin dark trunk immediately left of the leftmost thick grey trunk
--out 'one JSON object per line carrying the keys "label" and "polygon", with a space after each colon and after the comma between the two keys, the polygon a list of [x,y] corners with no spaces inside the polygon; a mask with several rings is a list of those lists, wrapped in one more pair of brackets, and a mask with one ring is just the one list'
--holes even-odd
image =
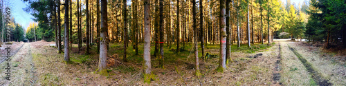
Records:
{"label": "thin dark trunk immediately left of the leftmost thick grey trunk", "polygon": [[62,36],[61,36],[61,20],[60,20],[60,0],[57,0],[57,53],[62,52]]}

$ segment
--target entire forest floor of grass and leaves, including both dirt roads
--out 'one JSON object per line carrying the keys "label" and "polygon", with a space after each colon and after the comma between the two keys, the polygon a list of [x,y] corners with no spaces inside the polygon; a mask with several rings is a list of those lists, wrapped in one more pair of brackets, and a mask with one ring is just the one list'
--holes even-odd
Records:
{"label": "entire forest floor of grass and leaves, including both dirt roads", "polygon": [[[274,40],[262,45],[232,45],[228,69],[216,72],[219,63],[219,45],[206,45],[210,58],[199,58],[201,77],[194,76],[194,52],[191,43],[175,52],[175,45],[165,45],[165,68],[158,67],[158,59],[152,56],[152,73],[155,78],[150,84],[143,80],[143,44],[139,55],[129,43],[128,62],[122,62],[122,43],[109,45],[109,76],[94,74],[98,68],[97,47],[85,55],[85,47],[78,52],[73,45],[71,64],[65,64],[64,54],[57,54],[54,42],[37,41],[17,43],[11,46],[11,80],[6,80],[6,63],[0,63],[0,85],[346,85],[346,56],[338,52],[325,52],[304,42]],[[183,45],[181,45],[183,46]],[[200,46],[200,45],[199,45]],[[4,46],[3,46],[4,47]],[[17,51],[16,51],[17,50]],[[1,50],[1,54],[6,54]],[[152,43],[154,54],[154,43]],[[201,49],[199,48],[201,57]],[[1,60],[1,59],[0,59]],[[6,63],[5,63],[6,62]]]}

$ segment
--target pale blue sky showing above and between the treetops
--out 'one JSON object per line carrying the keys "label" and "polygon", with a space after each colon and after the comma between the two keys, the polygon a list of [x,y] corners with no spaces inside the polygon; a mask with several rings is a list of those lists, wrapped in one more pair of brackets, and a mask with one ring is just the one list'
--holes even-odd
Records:
{"label": "pale blue sky showing above and between the treetops", "polygon": [[[10,8],[11,8],[11,14],[13,17],[15,17],[15,21],[22,25],[24,29],[26,30],[30,23],[33,23],[33,16],[23,10],[23,8],[26,8],[28,6],[28,3],[24,3],[24,1],[21,0],[9,0],[10,1]],[[282,0],[284,3],[286,3],[286,0]],[[298,3],[302,3],[304,0],[291,0],[291,3],[295,3],[298,5]],[[131,4],[131,1],[128,1],[128,4]]]}

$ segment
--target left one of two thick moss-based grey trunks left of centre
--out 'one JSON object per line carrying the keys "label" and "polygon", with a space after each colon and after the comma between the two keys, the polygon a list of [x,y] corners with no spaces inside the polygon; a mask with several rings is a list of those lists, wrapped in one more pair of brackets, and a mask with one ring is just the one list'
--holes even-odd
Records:
{"label": "left one of two thick moss-based grey trunks left of centre", "polygon": [[107,73],[107,0],[101,0],[101,38],[100,59],[98,62],[98,71],[101,75],[108,76]]}

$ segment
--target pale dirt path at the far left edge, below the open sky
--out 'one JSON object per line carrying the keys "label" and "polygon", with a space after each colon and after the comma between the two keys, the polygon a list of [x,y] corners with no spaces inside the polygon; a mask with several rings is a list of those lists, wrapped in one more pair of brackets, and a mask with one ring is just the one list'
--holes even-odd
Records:
{"label": "pale dirt path at the far left edge, below the open sky", "polygon": [[[35,63],[31,54],[30,43],[24,43],[20,50],[11,56],[10,80],[0,80],[2,85],[35,85]],[[1,66],[4,64],[1,63]],[[1,77],[5,77],[4,69],[0,70]],[[1,78],[2,79],[2,78]]]}

